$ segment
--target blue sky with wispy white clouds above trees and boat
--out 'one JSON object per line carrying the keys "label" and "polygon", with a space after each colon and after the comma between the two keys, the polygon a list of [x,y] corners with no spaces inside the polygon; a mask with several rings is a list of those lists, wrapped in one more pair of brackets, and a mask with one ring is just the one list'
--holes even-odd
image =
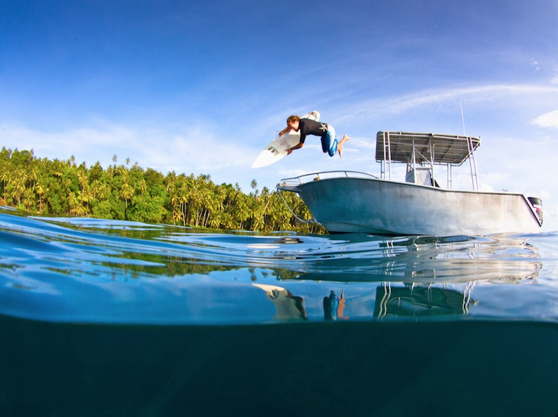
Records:
{"label": "blue sky with wispy white clouds above trees and boat", "polygon": [[[481,137],[481,190],[540,197],[552,232],[557,22],[557,0],[2,0],[0,145],[251,192],[379,175],[378,131],[466,133]],[[352,138],[343,158],[310,137],[251,168],[289,115],[313,110]],[[453,174],[470,189],[467,167]]]}

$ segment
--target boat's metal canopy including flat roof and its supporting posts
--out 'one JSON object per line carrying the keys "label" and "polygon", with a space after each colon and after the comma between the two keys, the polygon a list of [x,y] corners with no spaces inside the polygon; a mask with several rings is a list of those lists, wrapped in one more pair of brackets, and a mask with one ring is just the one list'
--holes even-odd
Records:
{"label": "boat's metal canopy including flat roof and its supporting posts", "polygon": [[481,145],[480,138],[440,133],[411,133],[379,131],[376,135],[376,161],[381,164],[381,178],[392,179],[392,162],[407,165],[407,172],[416,166],[446,165],[448,187],[451,188],[451,167],[470,161],[473,190],[478,190],[477,166],[474,151]]}

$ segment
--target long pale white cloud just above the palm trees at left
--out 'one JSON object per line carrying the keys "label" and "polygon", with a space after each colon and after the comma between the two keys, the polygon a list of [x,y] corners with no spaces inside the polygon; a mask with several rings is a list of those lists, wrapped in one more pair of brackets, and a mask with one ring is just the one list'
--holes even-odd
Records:
{"label": "long pale white cloud just above the palm trees at left", "polygon": [[[178,131],[178,132],[177,132]],[[79,164],[102,166],[138,161],[143,168],[177,173],[206,173],[212,169],[248,165],[247,156],[234,141],[219,140],[204,128],[138,128],[117,124],[67,131],[44,132],[22,126],[3,126],[2,145],[19,150],[34,150],[39,158],[68,159],[74,155]]]}

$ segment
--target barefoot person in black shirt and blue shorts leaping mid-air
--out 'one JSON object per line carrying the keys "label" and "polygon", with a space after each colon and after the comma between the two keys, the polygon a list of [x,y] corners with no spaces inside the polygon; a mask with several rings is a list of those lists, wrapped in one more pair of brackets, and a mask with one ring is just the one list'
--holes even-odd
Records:
{"label": "barefoot person in black shirt and blue shorts leaping mid-air", "polygon": [[349,136],[344,135],[343,139],[337,143],[336,131],[333,126],[322,123],[321,121],[300,119],[300,117],[296,115],[288,117],[287,127],[279,132],[279,135],[287,133],[288,131],[300,131],[300,142],[287,150],[288,155],[290,155],[293,150],[300,149],[304,146],[307,135],[319,136],[321,138],[321,150],[323,150],[324,153],[328,152],[330,157],[333,157],[337,152],[339,152],[339,156],[341,156],[343,144],[347,142],[347,140],[350,140]]}

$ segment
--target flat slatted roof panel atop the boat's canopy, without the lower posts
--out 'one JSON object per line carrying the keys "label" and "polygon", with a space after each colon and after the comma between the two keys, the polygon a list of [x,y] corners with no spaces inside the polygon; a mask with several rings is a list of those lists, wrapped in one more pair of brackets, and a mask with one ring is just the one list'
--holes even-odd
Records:
{"label": "flat slatted roof panel atop the boat's canopy, without the lower posts", "polygon": [[391,160],[394,162],[411,163],[414,146],[417,164],[432,162],[460,165],[469,157],[469,141],[472,151],[481,145],[480,138],[465,135],[380,131],[376,136],[376,161],[388,161],[391,154]]}

